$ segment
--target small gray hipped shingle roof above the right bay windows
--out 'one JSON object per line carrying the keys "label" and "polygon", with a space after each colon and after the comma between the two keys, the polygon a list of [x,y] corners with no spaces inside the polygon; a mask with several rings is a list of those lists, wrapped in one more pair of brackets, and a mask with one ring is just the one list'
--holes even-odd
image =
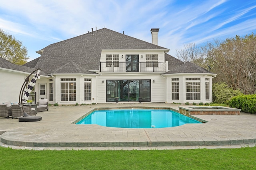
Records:
{"label": "small gray hipped shingle roof above the right bay windows", "polygon": [[177,74],[177,73],[210,73],[212,72],[196,65],[193,63],[190,63],[189,61],[183,64],[180,64],[179,66],[170,69],[170,71],[166,72],[165,74]]}

